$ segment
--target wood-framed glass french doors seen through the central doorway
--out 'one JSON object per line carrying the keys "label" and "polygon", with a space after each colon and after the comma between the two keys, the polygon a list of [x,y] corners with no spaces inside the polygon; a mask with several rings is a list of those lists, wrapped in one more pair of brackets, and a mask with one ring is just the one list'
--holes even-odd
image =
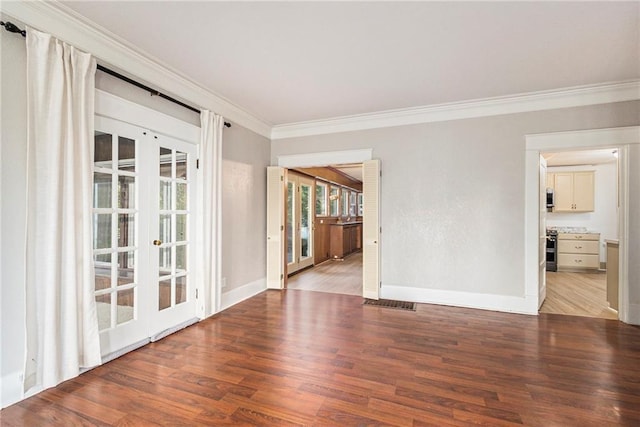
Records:
{"label": "wood-framed glass french doors seen through the central doorway", "polygon": [[287,274],[313,265],[314,180],[287,174]]}

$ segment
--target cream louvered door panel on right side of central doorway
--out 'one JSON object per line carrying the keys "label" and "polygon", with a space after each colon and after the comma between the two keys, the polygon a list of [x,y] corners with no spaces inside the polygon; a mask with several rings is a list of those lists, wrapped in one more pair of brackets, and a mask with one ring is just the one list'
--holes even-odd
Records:
{"label": "cream louvered door panel on right side of central doorway", "polygon": [[362,296],[380,297],[380,160],[362,164]]}

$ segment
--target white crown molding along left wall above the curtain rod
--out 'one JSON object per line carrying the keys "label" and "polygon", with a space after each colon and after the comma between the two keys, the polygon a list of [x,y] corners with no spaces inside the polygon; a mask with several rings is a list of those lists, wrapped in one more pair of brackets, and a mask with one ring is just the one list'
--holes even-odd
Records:
{"label": "white crown molding along left wall above the curtain rod", "polygon": [[0,10],[41,31],[91,53],[98,61],[124,74],[142,79],[163,92],[269,138],[271,124],[199,85],[180,72],[151,57],[131,43],[89,21],[56,1],[3,1]]}

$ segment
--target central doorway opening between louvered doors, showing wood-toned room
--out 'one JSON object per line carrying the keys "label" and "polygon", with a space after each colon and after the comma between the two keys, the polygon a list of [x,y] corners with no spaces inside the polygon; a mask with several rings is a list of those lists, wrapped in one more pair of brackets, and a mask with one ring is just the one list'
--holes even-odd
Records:
{"label": "central doorway opening between louvered doors, showing wood-toned room", "polygon": [[285,287],[362,295],[362,164],[289,168]]}

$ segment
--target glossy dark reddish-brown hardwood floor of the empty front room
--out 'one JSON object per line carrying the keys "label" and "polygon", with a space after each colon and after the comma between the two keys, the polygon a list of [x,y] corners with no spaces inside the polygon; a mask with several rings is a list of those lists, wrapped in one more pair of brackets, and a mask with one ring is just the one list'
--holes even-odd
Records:
{"label": "glossy dark reddish-brown hardwood floor of the empty front room", "polygon": [[640,328],[267,291],[0,412],[2,426],[640,425]]}

